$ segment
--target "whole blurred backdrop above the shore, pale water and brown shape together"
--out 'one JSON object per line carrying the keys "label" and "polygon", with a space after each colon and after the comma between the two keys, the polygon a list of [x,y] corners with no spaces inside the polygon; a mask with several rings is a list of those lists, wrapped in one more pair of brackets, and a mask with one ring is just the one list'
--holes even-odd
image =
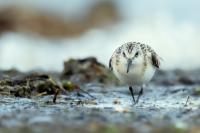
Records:
{"label": "whole blurred backdrop above the shore, pale water and brown shape together", "polygon": [[62,71],[69,58],[108,64],[125,42],[150,45],[162,69],[200,66],[197,0],[0,0],[0,69]]}

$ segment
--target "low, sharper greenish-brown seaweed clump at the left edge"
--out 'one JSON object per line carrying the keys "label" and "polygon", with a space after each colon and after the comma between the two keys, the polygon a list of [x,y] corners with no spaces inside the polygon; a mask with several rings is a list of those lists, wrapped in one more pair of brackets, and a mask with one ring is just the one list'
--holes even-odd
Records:
{"label": "low, sharper greenish-brown seaweed clump at the left edge", "polygon": [[16,97],[40,96],[55,94],[59,85],[49,76],[31,74],[21,79],[6,78],[0,80],[0,93]]}

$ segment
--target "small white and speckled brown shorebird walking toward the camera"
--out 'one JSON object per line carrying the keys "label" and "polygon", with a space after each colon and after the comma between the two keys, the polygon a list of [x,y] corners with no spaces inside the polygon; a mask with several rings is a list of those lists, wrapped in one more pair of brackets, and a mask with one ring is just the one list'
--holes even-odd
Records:
{"label": "small white and speckled brown shorebird walking toward the camera", "polygon": [[[109,69],[114,75],[127,84],[133,102],[137,104],[146,85],[160,68],[161,58],[149,46],[140,42],[127,42],[119,46],[109,60]],[[139,86],[140,91],[135,100],[134,88]]]}

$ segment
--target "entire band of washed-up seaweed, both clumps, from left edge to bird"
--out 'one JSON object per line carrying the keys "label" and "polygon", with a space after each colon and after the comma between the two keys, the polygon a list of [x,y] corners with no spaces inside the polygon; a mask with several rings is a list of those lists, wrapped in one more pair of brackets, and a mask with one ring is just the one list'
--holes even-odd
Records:
{"label": "entire band of washed-up seaweed, both clumps, from left edge to bird", "polygon": [[60,93],[85,92],[80,88],[84,83],[117,84],[118,80],[106,66],[93,57],[70,59],[64,63],[63,73],[32,72],[25,74],[17,70],[2,71],[0,94],[26,98],[54,95],[55,102]]}

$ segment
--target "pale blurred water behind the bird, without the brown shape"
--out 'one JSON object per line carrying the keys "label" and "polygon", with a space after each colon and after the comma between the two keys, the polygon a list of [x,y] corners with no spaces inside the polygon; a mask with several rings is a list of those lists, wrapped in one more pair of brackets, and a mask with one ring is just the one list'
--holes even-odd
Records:
{"label": "pale blurred water behind the bird, without the brown shape", "polygon": [[49,40],[6,33],[0,37],[0,68],[61,71],[64,60],[87,56],[96,56],[108,64],[114,49],[128,41],[152,46],[164,60],[163,69],[199,68],[198,5],[195,0],[116,1],[123,21],[112,27],[89,30],[77,38]]}

